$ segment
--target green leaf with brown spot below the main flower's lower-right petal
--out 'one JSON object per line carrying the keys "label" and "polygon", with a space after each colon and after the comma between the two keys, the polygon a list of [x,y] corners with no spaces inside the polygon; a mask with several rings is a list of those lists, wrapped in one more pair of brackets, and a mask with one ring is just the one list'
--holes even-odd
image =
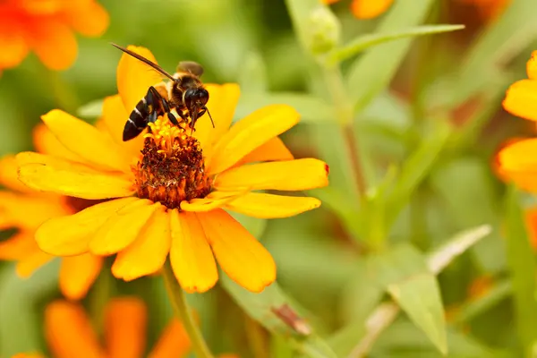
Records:
{"label": "green leaf with brown spot below the main flower's lower-right petal", "polygon": [[235,284],[231,278],[222,274],[220,282],[224,289],[230,294],[234,301],[243,308],[243,310],[253,319],[267,328],[272,334],[279,335],[286,339],[296,352],[314,358],[336,358],[337,355],[332,349],[318,336],[311,334],[308,336],[299,335],[293,328],[281,320],[275,313],[274,309],[284,304],[289,305],[298,314],[303,314],[304,310],[292,303],[289,297],[282,289],[273,283],[265,288],[260,294],[252,294],[243,287]]}

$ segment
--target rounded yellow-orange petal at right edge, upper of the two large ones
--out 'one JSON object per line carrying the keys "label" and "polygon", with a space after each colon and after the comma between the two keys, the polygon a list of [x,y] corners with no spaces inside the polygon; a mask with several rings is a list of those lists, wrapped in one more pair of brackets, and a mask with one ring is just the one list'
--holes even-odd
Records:
{"label": "rounded yellow-orange petal at right edge, upper of the two large ones", "polygon": [[537,121],[537,81],[522,80],[507,90],[503,107],[511,115]]}

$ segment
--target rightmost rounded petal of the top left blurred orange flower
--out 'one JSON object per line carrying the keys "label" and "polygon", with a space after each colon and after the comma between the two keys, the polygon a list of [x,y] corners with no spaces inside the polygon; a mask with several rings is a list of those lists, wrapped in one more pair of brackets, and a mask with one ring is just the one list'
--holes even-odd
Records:
{"label": "rightmost rounded petal of the top left blurred orange flower", "polygon": [[63,18],[73,30],[88,37],[101,36],[110,23],[107,10],[97,1],[71,1],[64,8]]}

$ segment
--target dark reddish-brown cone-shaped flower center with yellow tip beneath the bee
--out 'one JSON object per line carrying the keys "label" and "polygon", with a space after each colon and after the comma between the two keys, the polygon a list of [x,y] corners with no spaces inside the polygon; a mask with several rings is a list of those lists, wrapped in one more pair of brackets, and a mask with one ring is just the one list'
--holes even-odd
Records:
{"label": "dark reddish-brown cone-shaped flower center with yellow tip beneath the bee", "polygon": [[200,142],[165,118],[149,124],[141,158],[132,166],[140,198],[180,209],[181,201],[204,198],[212,181],[205,174]]}

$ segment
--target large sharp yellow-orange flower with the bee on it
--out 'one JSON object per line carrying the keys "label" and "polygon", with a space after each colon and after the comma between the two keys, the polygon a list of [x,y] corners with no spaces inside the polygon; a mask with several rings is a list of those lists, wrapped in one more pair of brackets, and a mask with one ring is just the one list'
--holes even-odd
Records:
{"label": "large sharp yellow-orange flower with the bee on it", "polygon": [[[130,48],[154,61],[149,50]],[[128,113],[158,81],[144,64],[122,57],[119,95],[106,98],[103,109],[108,136],[60,110],[43,115],[72,159],[21,153],[21,181],[41,191],[110,200],[48,220],[36,233],[38,245],[57,256],[117,253],[112,272],[127,281],[157,272],[169,253],[187,292],[216,284],[216,258],[235,282],[260,292],[276,279],[275,262],[224,209],[271,218],[318,208],[314,198],[253,191],[319,188],[328,184],[328,166],[294,160],[278,139],[298,123],[292,107],[264,107],[230,127],[239,98],[235,84],[207,85],[216,128],[203,117],[191,136],[190,128],[159,118],[145,140],[123,142]]]}

